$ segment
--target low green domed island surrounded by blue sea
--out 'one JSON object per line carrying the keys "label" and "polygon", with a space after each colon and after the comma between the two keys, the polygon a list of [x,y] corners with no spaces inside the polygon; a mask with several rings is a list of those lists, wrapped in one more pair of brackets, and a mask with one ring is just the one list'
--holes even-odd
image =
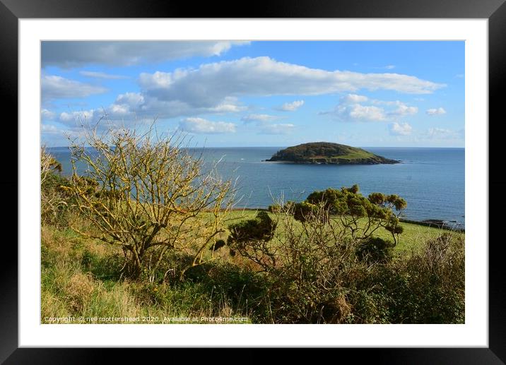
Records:
{"label": "low green domed island surrounded by blue sea", "polygon": [[397,164],[400,161],[375,155],[362,148],[330,142],[302,143],[279,150],[267,162],[302,164]]}

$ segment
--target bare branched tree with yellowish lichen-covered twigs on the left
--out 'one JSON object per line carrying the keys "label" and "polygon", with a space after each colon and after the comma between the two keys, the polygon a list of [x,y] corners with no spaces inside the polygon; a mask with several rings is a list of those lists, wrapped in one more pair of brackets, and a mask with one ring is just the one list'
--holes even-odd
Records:
{"label": "bare branched tree with yellowish lichen-covered twigs on the left", "polygon": [[[71,191],[78,210],[95,227],[77,232],[122,247],[127,275],[151,273],[167,252],[191,254],[200,265],[211,258],[206,247],[225,232],[224,222],[233,204],[230,181],[223,181],[216,164],[204,166],[193,155],[184,136],[161,138],[153,128],[109,128],[104,133],[84,129],[81,143],[72,143]],[[88,169],[81,176],[76,163]]]}

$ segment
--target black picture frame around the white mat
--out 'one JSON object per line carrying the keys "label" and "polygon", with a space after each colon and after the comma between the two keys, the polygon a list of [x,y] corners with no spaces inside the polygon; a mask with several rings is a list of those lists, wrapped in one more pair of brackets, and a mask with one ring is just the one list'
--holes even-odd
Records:
{"label": "black picture frame around the white mat", "polygon": [[[0,0],[0,100],[4,110],[13,112],[11,120],[17,120],[18,103],[18,19],[20,18],[487,18],[489,30],[489,191],[502,192],[506,178],[500,176],[502,147],[500,133],[502,121],[502,93],[506,88],[506,0],[334,0],[334,1],[256,1],[252,6],[233,8],[216,2],[202,2],[195,6],[190,1],[143,0]],[[228,8],[227,11],[224,8]],[[245,10],[239,10],[243,8]],[[466,102],[470,102],[466,100]],[[494,121],[494,123],[490,123]],[[487,123],[487,121],[483,121]],[[18,135],[11,124],[11,136]],[[493,129],[493,133],[492,133]],[[15,140],[12,138],[12,140]],[[11,149],[12,151],[14,148]],[[17,146],[16,146],[17,150]],[[7,159],[0,174],[2,191],[18,190],[17,159]],[[15,194],[2,197],[8,206],[16,206]],[[503,193],[495,193],[490,205],[489,227],[501,226],[499,214],[493,214],[493,206],[505,201]],[[16,205],[15,205],[16,204]],[[486,214],[486,213],[484,213]],[[11,220],[16,220],[9,213]],[[22,218],[22,217],[20,217]],[[11,223],[11,227],[15,222]],[[4,222],[8,225],[8,221]],[[490,232],[490,230],[489,230]],[[491,232],[490,232],[491,233]],[[372,356],[379,363],[388,364],[504,364],[506,361],[506,285],[502,278],[500,239],[489,242],[489,347],[452,349],[339,349],[351,352],[355,357]],[[500,238],[500,237],[499,237]],[[11,239],[13,241],[13,239]],[[10,251],[5,251],[10,250]],[[18,348],[18,250],[8,240],[3,242],[3,256],[8,260],[0,265],[0,362],[5,364],[75,364],[98,363],[105,359],[104,349],[28,349]],[[139,356],[125,349],[113,350],[134,359]],[[171,350],[173,351],[173,350]],[[247,356],[252,349],[242,352]],[[158,351],[150,352],[158,356]],[[151,356],[153,356],[151,355]],[[143,355],[144,361],[148,359]]]}

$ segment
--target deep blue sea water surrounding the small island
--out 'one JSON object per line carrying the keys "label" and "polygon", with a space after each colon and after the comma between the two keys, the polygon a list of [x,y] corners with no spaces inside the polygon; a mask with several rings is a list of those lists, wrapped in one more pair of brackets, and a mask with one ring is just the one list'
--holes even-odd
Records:
{"label": "deep blue sea water surrounding the small island", "polygon": [[[328,165],[262,162],[281,148],[205,148],[206,161],[221,160],[225,179],[237,179],[238,207],[266,208],[273,198],[301,201],[314,190],[358,184],[367,195],[396,193],[406,199],[404,217],[464,225],[464,148],[365,148],[401,164]],[[71,172],[68,148],[49,148]]]}

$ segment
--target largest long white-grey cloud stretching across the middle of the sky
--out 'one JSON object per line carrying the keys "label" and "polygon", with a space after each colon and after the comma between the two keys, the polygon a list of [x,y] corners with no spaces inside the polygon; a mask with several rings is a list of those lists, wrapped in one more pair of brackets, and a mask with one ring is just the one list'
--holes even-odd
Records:
{"label": "largest long white-grey cloud stretching across the middle of the sky", "polygon": [[192,107],[213,107],[230,96],[324,95],[360,89],[425,94],[444,86],[397,73],[325,71],[269,57],[221,61],[172,73],[141,73],[139,82],[147,95]]}

